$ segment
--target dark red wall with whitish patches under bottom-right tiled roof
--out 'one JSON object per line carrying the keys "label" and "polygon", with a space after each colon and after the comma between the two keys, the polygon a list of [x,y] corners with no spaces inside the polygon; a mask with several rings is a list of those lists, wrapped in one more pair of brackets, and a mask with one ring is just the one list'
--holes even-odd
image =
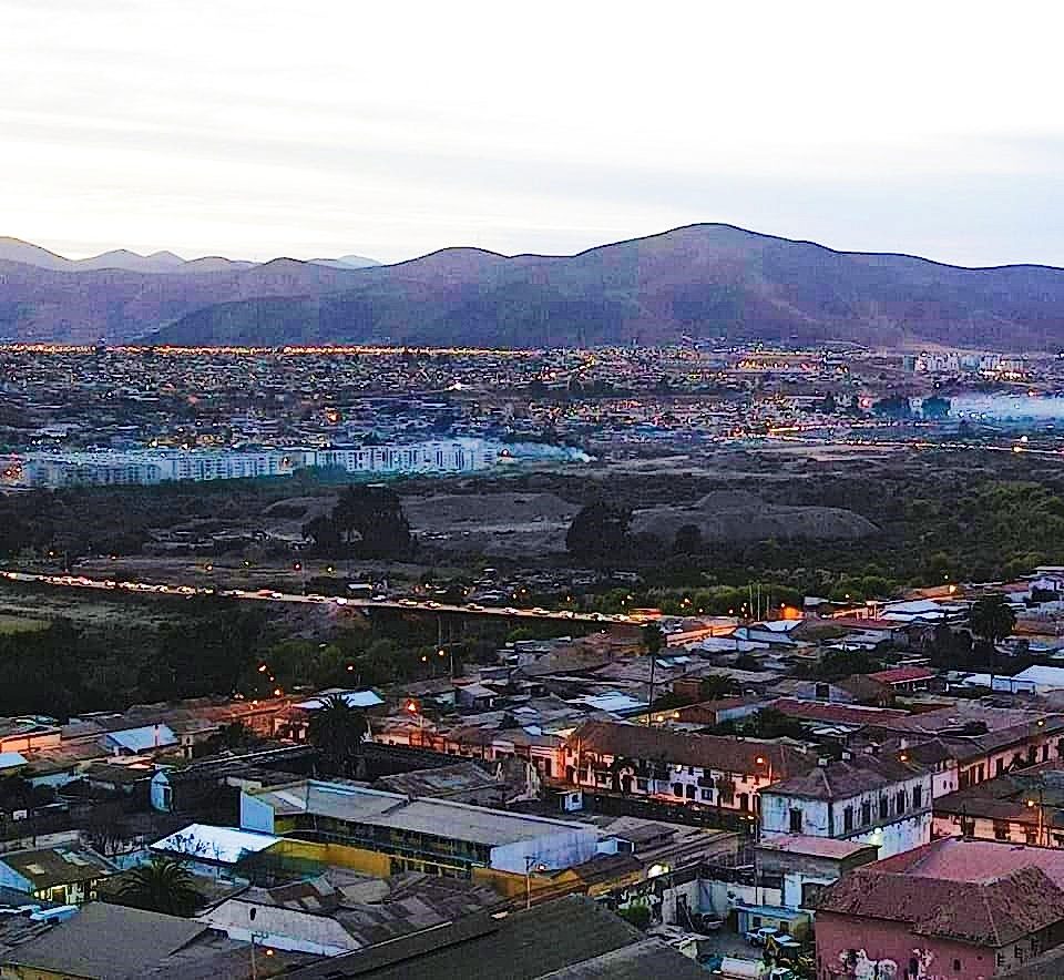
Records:
{"label": "dark red wall with whitish patches under bottom-right tiled roof", "polygon": [[[849,950],[857,966],[845,971]],[[817,970],[820,980],[852,976],[856,980],[906,980],[910,959],[919,980],[984,980],[994,976],[994,950],[914,936],[903,923],[817,913]],[[960,969],[954,970],[954,960]],[[836,973],[831,972],[835,968]],[[878,972],[877,972],[878,969]]]}

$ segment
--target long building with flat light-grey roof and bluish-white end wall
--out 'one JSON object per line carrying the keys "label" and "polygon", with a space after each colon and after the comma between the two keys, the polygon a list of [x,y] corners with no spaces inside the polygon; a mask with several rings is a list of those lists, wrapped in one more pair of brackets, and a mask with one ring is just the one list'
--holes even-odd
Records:
{"label": "long building with flat light-grey roof and bluish-white end wall", "polygon": [[395,871],[428,866],[453,877],[478,867],[570,868],[594,857],[598,841],[583,824],[313,779],[242,793],[241,827],[347,844],[390,855]]}

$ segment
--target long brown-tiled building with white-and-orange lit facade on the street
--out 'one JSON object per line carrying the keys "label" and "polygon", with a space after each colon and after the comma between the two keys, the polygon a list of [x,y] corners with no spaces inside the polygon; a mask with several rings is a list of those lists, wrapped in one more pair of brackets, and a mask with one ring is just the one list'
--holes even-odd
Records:
{"label": "long brown-tiled building with white-and-orange lit facade on the street", "polygon": [[565,782],[586,789],[757,811],[766,786],[814,757],[778,742],[586,722],[566,739]]}

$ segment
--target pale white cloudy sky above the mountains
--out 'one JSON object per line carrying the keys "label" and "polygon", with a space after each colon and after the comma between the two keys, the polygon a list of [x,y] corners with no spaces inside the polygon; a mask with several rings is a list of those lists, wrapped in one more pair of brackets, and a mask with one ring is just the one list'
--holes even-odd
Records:
{"label": "pale white cloudy sky above the mountains", "polygon": [[0,0],[0,235],[382,262],[696,222],[1064,266],[1054,2]]}

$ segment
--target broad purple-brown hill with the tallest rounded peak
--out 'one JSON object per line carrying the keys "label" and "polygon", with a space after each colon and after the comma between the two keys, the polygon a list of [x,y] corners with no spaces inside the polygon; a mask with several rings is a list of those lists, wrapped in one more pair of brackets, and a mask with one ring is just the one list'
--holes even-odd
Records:
{"label": "broad purple-brown hill with the tallest rounded peak", "polygon": [[574,256],[449,248],[338,294],[204,308],[175,344],[655,345],[682,337],[1064,347],[1064,270],[966,269],[692,225]]}

